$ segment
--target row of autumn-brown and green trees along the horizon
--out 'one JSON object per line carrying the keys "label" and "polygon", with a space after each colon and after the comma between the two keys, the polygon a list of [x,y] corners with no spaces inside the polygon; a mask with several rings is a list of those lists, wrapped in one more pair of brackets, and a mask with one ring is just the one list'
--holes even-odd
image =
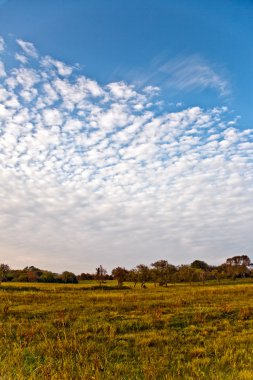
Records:
{"label": "row of autumn-brown and green trees along the horizon", "polygon": [[0,264],[0,281],[3,282],[42,282],[42,283],[72,283],[77,284],[84,280],[96,280],[102,285],[106,280],[116,280],[119,287],[124,282],[137,283],[145,287],[147,282],[153,282],[155,286],[167,286],[176,282],[199,282],[207,280],[236,279],[253,277],[253,264],[247,255],[233,256],[219,266],[212,266],[205,261],[195,260],[191,264],[175,266],[167,260],[158,260],[150,266],[139,264],[133,269],[116,267],[108,274],[106,269],[100,265],[95,273],[81,273],[75,275],[64,271],[61,274],[42,270],[34,266],[24,269],[11,269],[7,264]]}

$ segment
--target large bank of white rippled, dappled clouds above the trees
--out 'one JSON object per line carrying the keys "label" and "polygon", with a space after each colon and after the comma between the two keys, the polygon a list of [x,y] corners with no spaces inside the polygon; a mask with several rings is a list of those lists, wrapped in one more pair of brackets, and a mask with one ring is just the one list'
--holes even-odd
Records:
{"label": "large bank of white rippled, dappled clouds above the trees", "polygon": [[0,249],[92,271],[250,255],[253,130],[224,108],[161,112],[157,88],[100,86],[0,38]]}

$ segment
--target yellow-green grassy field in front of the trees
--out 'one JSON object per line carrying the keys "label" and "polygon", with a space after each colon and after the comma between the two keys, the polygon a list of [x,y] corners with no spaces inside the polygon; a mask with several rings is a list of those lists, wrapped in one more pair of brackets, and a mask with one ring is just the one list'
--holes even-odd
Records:
{"label": "yellow-green grassy field in front of the trees", "polygon": [[1,285],[1,380],[253,379],[253,283],[92,285]]}

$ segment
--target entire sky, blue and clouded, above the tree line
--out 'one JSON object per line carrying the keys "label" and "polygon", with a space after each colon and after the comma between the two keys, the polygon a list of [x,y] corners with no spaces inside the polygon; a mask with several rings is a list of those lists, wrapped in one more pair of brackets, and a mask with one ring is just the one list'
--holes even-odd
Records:
{"label": "entire sky, blue and clouded, above the tree line", "polygon": [[0,262],[253,258],[253,3],[0,0]]}

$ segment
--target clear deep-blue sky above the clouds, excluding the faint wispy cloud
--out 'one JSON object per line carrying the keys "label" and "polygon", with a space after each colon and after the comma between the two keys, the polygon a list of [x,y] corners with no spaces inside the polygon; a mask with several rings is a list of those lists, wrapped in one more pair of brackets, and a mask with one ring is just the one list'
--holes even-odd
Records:
{"label": "clear deep-blue sky above the clouds, excluding the faint wispy cloud", "polygon": [[[168,101],[201,106],[228,104],[250,126],[252,107],[251,1],[5,1],[2,34],[32,41],[42,54],[79,63],[100,83],[141,77],[165,87]],[[166,83],[167,61],[191,56],[226,81],[226,97]],[[156,64],[154,64],[156,62]],[[155,72],[155,73],[154,73]],[[190,88],[191,89],[191,88]]]}

